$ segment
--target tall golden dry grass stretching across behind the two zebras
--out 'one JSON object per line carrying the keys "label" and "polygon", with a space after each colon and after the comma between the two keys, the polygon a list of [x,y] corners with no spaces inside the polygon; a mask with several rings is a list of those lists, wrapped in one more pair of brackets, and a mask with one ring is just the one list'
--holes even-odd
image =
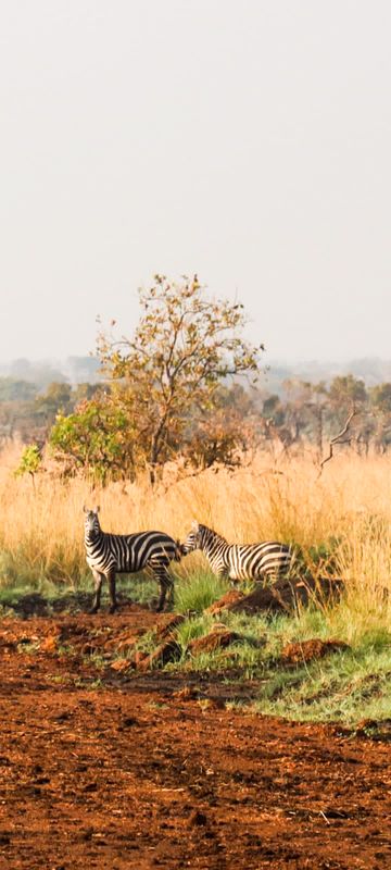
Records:
{"label": "tall golden dry grass stretching across behind the two zebras", "polygon": [[[318,470],[308,453],[280,459],[267,453],[229,474],[207,471],[151,490],[147,480],[91,488],[49,474],[14,477],[20,449],[0,455],[0,585],[45,579],[77,586],[88,575],[83,547],[83,505],[99,504],[105,531],[161,529],[184,538],[197,519],[230,542],[294,542],[311,554],[335,549],[335,573],[346,583],[352,625],[390,626],[391,459],[337,456]],[[323,548],[323,549],[321,549]],[[336,549],[337,548],[337,549]],[[202,564],[194,555],[185,573]],[[312,566],[314,567],[314,566]],[[321,570],[321,567],[320,569]],[[355,631],[355,627],[352,631]],[[358,630],[358,629],[357,629]]]}

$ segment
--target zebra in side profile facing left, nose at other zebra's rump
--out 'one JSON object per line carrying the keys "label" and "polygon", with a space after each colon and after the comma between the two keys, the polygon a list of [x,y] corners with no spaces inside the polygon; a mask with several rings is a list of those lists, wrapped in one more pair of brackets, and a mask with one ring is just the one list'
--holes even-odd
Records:
{"label": "zebra in side profile facing left, nose at other zebra's rump", "polygon": [[292,550],[287,544],[265,540],[262,544],[228,544],[227,540],[209,529],[193,522],[192,529],[180,551],[184,556],[193,550],[202,550],[214,574],[229,580],[276,580],[289,571]]}

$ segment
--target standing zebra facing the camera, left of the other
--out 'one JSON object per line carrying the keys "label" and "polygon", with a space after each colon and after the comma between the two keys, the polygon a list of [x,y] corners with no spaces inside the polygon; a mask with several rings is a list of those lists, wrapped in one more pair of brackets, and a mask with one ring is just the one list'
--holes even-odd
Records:
{"label": "standing zebra facing the camera, left of the other", "polygon": [[173,598],[174,581],[167,568],[172,559],[180,560],[181,550],[178,542],[164,532],[139,532],[135,535],[108,534],[100,527],[99,507],[93,510],[85,507],[84,512],[86,558],[93,574],[96,588],[91,613],[99,610],[104,577],[109,584],[110,613],[114,613],[117,607],[115,574],[133,574],[143,568],[150,568],[160,583],[161,594],[156,610],[162,610],[167,591],[169,599]]}

